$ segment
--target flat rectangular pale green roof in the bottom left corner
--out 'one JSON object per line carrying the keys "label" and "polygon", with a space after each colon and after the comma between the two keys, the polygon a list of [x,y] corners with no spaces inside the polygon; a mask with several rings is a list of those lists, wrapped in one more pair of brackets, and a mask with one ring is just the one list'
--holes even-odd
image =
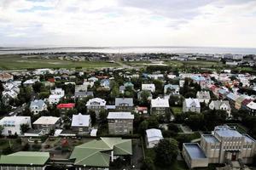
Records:
{"label": "flat rectangular pale green roof in the bottom left corner", "polygon": [[0,165],[44,165],[49,160],[49,152],[20,151],[1,156]]}

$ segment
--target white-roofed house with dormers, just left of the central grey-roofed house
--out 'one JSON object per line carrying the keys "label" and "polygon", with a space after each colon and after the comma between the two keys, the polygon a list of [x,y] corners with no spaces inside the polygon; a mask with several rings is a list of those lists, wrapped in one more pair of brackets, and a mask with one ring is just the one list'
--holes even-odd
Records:
{"label": "white-roofed house with dormers, just left of the central grey-roofed house", "polygon": [[94,111],[96,113],[96,117],[99,117],[100,111],[106,110],[106,103],[106,100],[101,98],[89,99],[86,103],[87,113]]}

